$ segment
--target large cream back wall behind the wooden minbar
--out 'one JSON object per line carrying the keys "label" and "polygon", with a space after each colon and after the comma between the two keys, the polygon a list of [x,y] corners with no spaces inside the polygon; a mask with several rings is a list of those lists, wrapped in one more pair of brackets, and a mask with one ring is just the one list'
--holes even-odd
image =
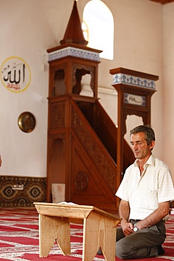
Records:
{"label": "large cream back wall behind the wooden minbar", "polygon": [[[81,18],[87,1],[77,1]],[[173,20],[173,9],[170,10],[170,7],[173,8],[174,4],[163,7],[161,4],[145,0],[104,0],[104,3],[111,9],[115,20],[115,49],[113,61],[101,59],[99,87],[113,90],[112,76],[109,74],[109,70],[113,68],[123,67],[159,75],[160,80],[156,83],[157,92],[151,99],[151,123],[157,138],[154,152],[157,157],[168,159],[168,163],[172,165],[170,152],[166,149],[166,142],[163,142],[163,123],[168,130],[168,142],[169,138],[172,138],[170,144],[174,141],[170,121],[167,119],[163,121],[163,111],[166,115],[166,112],[171,111],[171,107],[168,97],[165,96],[163,100],[162,48],[163,13],[164,20],[166,19],[164,26],[167,27],[169,21]],[[0,6],[0,65],[10,56],[19,56],[28,63],[32,71],[30,86],[24,92],[10,92],[0,81],[0,151],[3,159],[0,174],[44,177],[47,138],[46,97],[49,82],[46,49],[56,47],[63,39],[73,8],[73,0],[0,0]],[[170,36],[168,28],[168,37]],[[166,42],[166,50],[168,44]],[[172,73],[170,78],[171,75]],[[171,92],[171,87],[169,90]],[[168,96],[171,100],[172,95]],[[113,104],[114,97],[111,97],[112,102],[109,99],[108,103],[104,93],[99,92],[99,97],[101,104],[103,102],[116,122],[116,95],[115,104]],[[167,102],[168,105],[165,107],[163,102]],[[18,116],[23,111],[30,111],[35,115],[37,125],[32,133],[23,133],[18,128]],[[166,151],[165,155],[163,148]],[[174,171],[173,165],[172,168]]]}

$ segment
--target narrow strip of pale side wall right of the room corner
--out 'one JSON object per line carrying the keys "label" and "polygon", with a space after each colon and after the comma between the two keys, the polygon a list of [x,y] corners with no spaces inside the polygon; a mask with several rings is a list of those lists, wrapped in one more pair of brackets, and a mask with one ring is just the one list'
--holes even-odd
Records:
{"label": "narrow strip of pale side wall right of the room corner", "polygon": [[174,181],[174,3],[163,8],[163,160],[170,166]]}

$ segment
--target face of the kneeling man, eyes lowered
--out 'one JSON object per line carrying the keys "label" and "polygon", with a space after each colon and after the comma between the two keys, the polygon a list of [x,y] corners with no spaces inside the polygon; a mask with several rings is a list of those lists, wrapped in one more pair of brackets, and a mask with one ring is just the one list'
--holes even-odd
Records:
{"label": "face of the kneeling man, eyes lowered", "polygon": [[144,133],[130,135],[130,143],[136,159],[148,158],[151,154],[151,149],[154,147],[154,141],[147,145]]}

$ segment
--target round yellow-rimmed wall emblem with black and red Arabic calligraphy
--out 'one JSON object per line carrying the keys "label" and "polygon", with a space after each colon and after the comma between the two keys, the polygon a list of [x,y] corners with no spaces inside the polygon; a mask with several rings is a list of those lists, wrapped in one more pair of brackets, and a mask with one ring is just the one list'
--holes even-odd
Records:
{"label": "round yellow-rimmed wall emblem with black and red Arabic calligraphy", "polygon": [[22,92],[30,85],[30,68],[19,57],[10,57],[2,63],[1,81],[4,86],[13,92]]}

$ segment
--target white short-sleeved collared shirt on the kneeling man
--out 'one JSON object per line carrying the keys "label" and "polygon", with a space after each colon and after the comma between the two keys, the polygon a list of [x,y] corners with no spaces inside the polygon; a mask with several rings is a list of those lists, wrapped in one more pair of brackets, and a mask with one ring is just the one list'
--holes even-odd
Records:
{"label": "white short-sleeved collared shirt on the kneeling man", "polygon": [[173,182],[168,166],[153,154],[140,176],[138,159],[125,171],[116,196],[130,204],[130,219],[144,219],[160,202],[174,200]]}

